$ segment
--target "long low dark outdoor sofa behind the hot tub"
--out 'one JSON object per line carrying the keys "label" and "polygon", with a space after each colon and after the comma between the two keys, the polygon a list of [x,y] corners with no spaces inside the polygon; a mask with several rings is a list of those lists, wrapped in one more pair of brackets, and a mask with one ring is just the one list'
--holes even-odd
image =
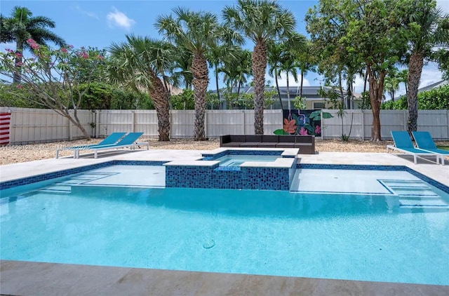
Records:
{"label": "long low dark outdoor sofa behind the hot tub", "polygon": [[299,148],[299,154],[315,154],[315,136],[221,135],[220,147]]}

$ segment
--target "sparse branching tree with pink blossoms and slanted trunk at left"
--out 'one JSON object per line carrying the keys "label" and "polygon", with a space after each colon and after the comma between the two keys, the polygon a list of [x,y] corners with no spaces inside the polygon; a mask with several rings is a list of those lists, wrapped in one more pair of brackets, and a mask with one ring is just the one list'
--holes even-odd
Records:
{"label": "sparse branching tree with pink blossoms and slanted trunk at left", "polygon": [[[27,40],[28,46],[33,48],[32,58],[22,57],[22,62],[16,62],[18,52],[7,50],[0,53],[0,80],[11,85],[11,79],[21,73],[21,82],[12,83],[17,88],[25,88],[25,93],[33,93],[31,97],[22,97],[24,100],[34,100],[34,103],[53,109],[56,113],[69,119],[87,140],[91,136],[81,125],[78,118],[78,109],[87,89],[82,90],[77,79],[79,69],[93,73],[98,67],[103,67],[104,58],[95,51],[74,49],[72,46],[53,50],[33,39]],[[88,83],[92,79],[86,77]]]}

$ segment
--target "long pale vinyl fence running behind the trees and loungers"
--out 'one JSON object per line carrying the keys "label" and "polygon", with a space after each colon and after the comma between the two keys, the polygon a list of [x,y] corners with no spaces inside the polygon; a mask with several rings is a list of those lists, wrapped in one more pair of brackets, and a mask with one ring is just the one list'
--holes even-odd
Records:
{"label": "long pale vinyl fence running behind the trees and loungers", "polygon": [[[69,120],[48,109],[0,107],[0,112],[11,112],[10,144],[31,144],[74,140],[83,137],[81,131]],[[342,134],[342,119],[335,110],[323,110],[334,115],[321,121],[323,138],[338,138]],[[114,132],[141,131],[147,137],[157,137],[157,116],[154,110],[79,110],[79,119],[93,137],[106,137]],[[170,110],[172,138],[189,138],[194,135],[194,110]],[[369,140],[373,114],[370,110],[347,110],[343,118],[344,133],[352,129],[351,138]],[[407,129],[406,110],[381,110],[381,136],[391,139],[390,130]],[[282,110],[264,111],[264,133],[272,134],[282,128]],[[449,140],[449,110],[420,110],[418,130],[427,130],[435,140]],[[206,136],[252,135],[254,110],[207,110]]]}

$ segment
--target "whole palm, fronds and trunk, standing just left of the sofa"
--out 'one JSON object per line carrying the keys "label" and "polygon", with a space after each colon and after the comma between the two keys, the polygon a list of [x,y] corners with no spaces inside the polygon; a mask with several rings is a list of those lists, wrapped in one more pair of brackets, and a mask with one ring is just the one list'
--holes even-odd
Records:
{"label": "whole palm, fronds and trunk, standing just left of the sofa", "polygon": [[217,43],[220,26],[213,13],[192,12],[184,8],[173,9],[172,15],[160,16],[156,28],[166,39],[192,53],[195,100],[194,140],[206,140],[204,116],[206,114],[206,91],[209,83],[206,52]]}

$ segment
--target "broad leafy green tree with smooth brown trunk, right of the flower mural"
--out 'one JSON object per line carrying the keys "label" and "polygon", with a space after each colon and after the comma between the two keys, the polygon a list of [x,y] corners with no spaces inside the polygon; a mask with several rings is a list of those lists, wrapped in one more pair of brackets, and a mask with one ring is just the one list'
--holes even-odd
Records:
{"label": "broad leafy green tree with smooth brown trunk, right of the flower mural", "polygon": [[306,15],[307,31],[316,52],[328,63],[343,67],[349,79],[366,67],[373,123],[371,140],[380,136],[380,104],[387,69],[406,51],[401,27],[405,0],[322,0]]}

